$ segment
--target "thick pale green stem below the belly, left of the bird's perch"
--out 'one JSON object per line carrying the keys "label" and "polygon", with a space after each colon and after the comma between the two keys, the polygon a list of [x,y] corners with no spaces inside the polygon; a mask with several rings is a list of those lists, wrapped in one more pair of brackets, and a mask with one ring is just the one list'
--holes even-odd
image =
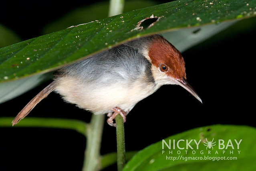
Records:
{"label": "thick pale green stem below the belly, left of the bird's perch", "polygon": [[83,171],[100,169],[100,149],[105,115],[93,115],[87,128],[87,143]]}

